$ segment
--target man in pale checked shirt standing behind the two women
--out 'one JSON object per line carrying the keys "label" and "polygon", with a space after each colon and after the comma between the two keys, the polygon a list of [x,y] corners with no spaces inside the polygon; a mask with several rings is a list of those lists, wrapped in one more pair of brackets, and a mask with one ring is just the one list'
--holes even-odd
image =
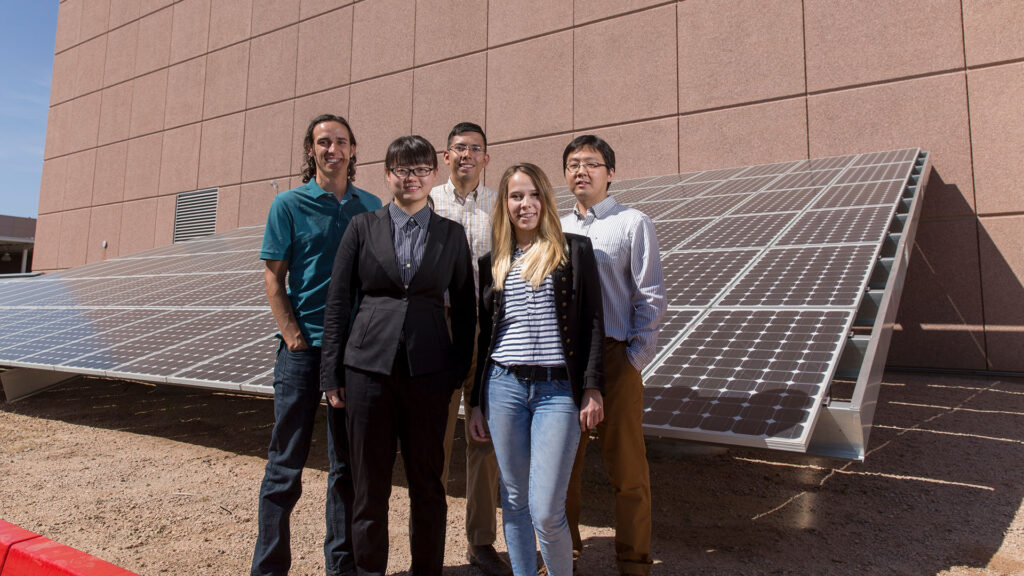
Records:
{"label": "man in pale checked shirt standing behind the two women", "polygon": [[[451,175],[442,186],[430,191],[430,201],[440,216],[455,220],[466,229],[466,239],[473,258],[473,281],[479,283],[477,259],[490,251],[490,212],[498,195],[483,186],[480,174],[490,157],[487,156],[487,137],[483,128],[472,122],[460,122],[449,133],[444,150],[444,164]],[[480,287],[476,286],[477,295]],[[469,421],[469,397],[473,392],[474,365],[462,384],[462,394],[452,395],[449,406],[449,423],[444,434],[444,470],[441,479],[447,482],[452,461],[452,443],[458,421],[459,405],[465,397],[466,421]],[[466,430],[466,557],[487,576],[505,576],[512,568],[498,556],[495,540],[498,523],[498,460],[489,442],[476,442]]]}

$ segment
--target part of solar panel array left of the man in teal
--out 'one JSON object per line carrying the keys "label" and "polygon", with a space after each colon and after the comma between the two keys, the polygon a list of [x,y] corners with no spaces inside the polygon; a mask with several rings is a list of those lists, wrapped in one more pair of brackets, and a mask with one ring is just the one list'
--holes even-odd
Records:
{"label": "part of solar panel array left of the man in teal", "polygon": [[0,366],[272,393],[262,227],[0,282]]}

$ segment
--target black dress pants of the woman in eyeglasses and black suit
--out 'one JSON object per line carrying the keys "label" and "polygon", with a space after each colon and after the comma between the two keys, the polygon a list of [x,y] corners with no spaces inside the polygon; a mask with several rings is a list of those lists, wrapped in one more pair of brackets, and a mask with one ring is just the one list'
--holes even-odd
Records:
{"label": "black dress pants of the woman in eyeglasses and black suit", "polygon": [[360,575],[383,576],[388,557],[388,499],[401,445],[411,500],[409,539],[414,576],[440,575],[447,501],[441,471],[451,377],[412,377],[403,349],[390,375],[345,369],[345,408],[353,485],[352,545]]}

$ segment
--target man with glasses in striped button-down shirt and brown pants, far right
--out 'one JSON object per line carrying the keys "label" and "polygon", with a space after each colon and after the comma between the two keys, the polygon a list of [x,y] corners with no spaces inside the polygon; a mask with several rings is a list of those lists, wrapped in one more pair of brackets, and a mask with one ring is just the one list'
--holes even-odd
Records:
{"label": "man with glasses in striped button-down shirt and brown pants, far right", "polygon": [[[594,135],[573,139],[562,153],[565,181],[577,204],[562,229],[594,243],[604,303],[604,421],[598,424],[605,467],[615,490],[615,556],[621,574],[650,573],[650,475],[643,441],[643,381],[665,314],[665,286],[654,224],[643,212],[608,196],[615,153]],[[573,556],[580,538],[581,475],[587,435],[569,479],[565,513]]]}

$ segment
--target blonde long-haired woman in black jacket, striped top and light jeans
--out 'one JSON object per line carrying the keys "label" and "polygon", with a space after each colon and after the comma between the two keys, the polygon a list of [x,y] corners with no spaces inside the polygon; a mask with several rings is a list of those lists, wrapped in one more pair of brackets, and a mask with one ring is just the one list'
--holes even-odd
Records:
{"label": "blonde long-haired woman in black jacket, striped top and light jeans", "polygon": [[597,261],[589,239],[562,234],[551,182],[532,164],[505,171],[492,221],[470,434],[495,446],[513,572],[537,574],[540,541],[548,574],[569,576],[565,493],[580,435],[604,417]]}

